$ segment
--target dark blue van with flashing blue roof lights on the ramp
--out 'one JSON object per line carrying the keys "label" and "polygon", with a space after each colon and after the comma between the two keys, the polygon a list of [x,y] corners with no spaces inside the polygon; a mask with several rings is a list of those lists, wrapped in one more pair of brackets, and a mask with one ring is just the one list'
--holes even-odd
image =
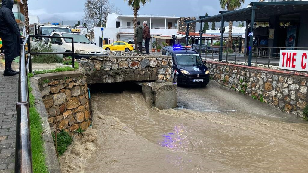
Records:
{"label": "dark blue van with flashing blue roof lights on the ramp", "polygon": [[202,85],[209,83],[209,70],[196,50],[186,46],[166,46],[162,55],[172,56],[173,82],[184,85]]}

